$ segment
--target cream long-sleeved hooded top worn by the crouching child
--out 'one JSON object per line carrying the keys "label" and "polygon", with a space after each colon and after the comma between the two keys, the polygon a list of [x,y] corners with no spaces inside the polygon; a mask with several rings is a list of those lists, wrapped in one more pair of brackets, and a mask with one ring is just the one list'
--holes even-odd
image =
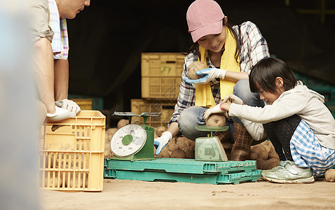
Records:
{"label": "cream long-sleeved hooded top worn by the crouching child", "polygon": [[240,118],[255,140],[266,136],[263,124],[288,118],[296,114],[313,130],[322,146],[335,149],[335,120],[324,97],[298,83],[292,90],[283,92],[272,105],[264,108],[231,104],[230,116]]}

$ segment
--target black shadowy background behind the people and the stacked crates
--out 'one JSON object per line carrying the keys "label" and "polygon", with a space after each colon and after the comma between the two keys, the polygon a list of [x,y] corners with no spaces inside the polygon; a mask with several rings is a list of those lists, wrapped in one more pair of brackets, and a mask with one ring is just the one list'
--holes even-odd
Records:
{"label": "black shadowy background behind the people and the stacked crates", "polygon": [[[187,52],[186,10],[193,2],[91,0],[69,29],[69,94],[104,99],[104,109],[130,111],[141,98],[141,52]],[[335,84],[335,15],[304,14],[322,0],[220,1],[231,24],[254,22],[271,55],[292,69]],[[327,10],[335,2],[325,0]]]}

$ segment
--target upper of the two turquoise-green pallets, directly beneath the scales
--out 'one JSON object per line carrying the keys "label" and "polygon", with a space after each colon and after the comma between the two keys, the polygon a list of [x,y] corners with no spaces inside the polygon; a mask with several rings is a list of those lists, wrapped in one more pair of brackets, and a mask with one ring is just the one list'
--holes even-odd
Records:
{"label": "upper of the two turquoise-green pallets, directly beneath the scales", "polygon": [[105,160],[105,167],[116,170],[140,172],[169,172],[184,174],[231,174],[251,172],[256,169],[255,160],[210,162],[194,159],[155,158],[154,160]]}

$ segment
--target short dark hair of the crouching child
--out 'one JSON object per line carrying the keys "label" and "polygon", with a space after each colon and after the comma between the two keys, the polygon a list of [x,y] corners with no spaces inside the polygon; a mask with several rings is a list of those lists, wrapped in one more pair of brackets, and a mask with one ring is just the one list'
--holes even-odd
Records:
{"label": "short dark hair of the crouching child", "polygon": [[250,71],[249,85],[252,92],[258,92],[256,83],[266,92],[277,92],[275,78],[281,77],[284,89],[291,90],[296,86],[298,79],[289,66],[281,59],[268,57],[261,59]]}

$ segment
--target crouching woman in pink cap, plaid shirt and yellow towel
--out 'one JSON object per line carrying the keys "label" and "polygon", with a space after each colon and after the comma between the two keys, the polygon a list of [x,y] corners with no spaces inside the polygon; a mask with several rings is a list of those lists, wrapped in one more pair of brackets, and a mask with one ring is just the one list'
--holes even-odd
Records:
{"label": "crouching woman in pink cap, plaid shirt and yellow towel", "polygon": [[[250,91],[248,80],[252,66],[270,57],[268,44],[257,26],[249,21],[229,25],[228,17],[213,0],[191,3],[186,20],[193,45],[185,57],[175,113],[168,130],[155,139],[158,145],[156,155],[180,132],[192,140],[207,137],[207,132],[200,132],[195,127],[206,125],[204,112],[221,103],[228,94],[235,94],[249,106],[264,106],[259,94]],[[208,69],[197,72],[202,78],[190,80],[189,65],[196,61],[205,62]],[[217,132],[216,135],[221,141],[228,138],[233,144],[229,160],[247,160],[253,139],[238,118],[226,117],[228,132]]]}

